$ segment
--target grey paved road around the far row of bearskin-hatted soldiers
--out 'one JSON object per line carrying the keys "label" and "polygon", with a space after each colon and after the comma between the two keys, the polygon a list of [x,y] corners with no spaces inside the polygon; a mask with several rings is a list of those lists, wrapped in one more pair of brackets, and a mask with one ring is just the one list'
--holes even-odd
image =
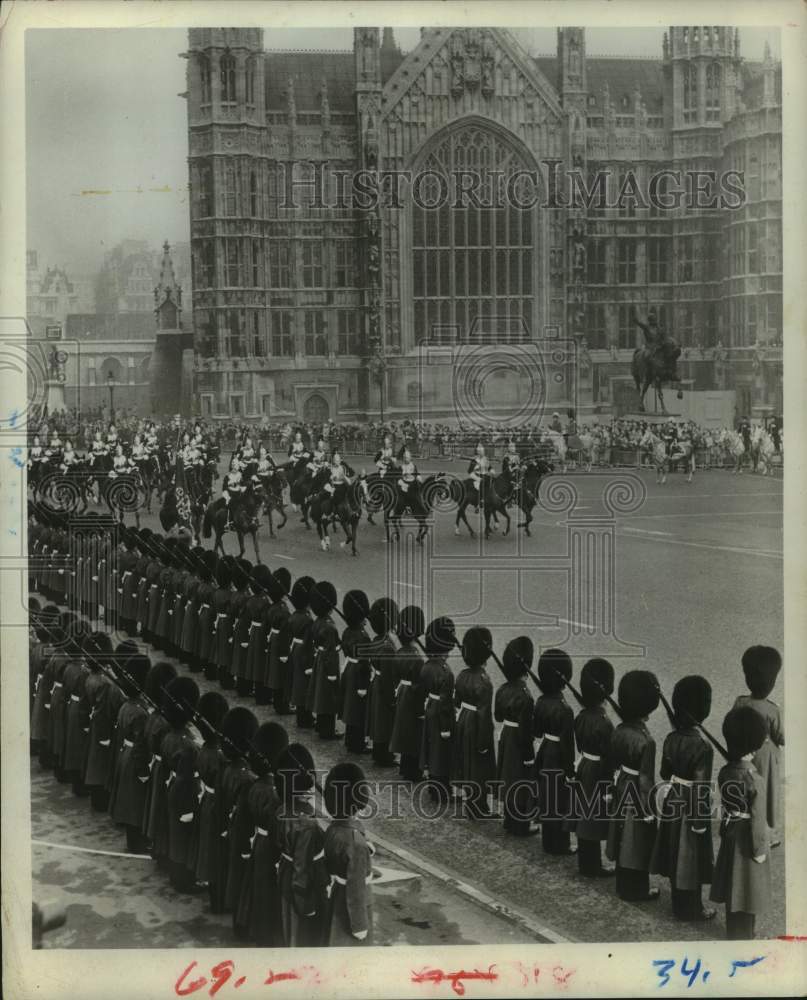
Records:
{"label": "grey paved road around the far row of bearskin-hatted soldiers", "polygon": [[[603,486],[618,475],[566,477],[577,490],[580,517],[603,512]],[[743,650],[757,642],[783,647],[781,480],[711,471],[696,474],[691,484],[671,476],[661,487],[650,472],[639,478],[646,497],[613,526],[614,633],[630,645],[612,643],[607,655],[618,676],[634,667],[655,670],[668,695],[679,677],[703,672],[714,688],[709,724],[719,734],[723,715],[744,688]],[[156,519],[144,523],[157,527]],[[602,521],[592,530],[602,533]],[[596,626],[594,610],[582,595],[601,595],[606,588],[601,563],[593,559],[583,559],[579,575],[570,581],[565,514],[537,509],[531,538],[514,530],[508,538],[496,534],[486,543],[467,533],[456,537],[453,516],[441,514],[430,537],[425,550],[386,546],[381,527],[363,523],[360,555],[354,559],[338,547],[322,552],[315,533],[291,516],[276,540],[262,531],[260,544],[270,567],[283,564],[293,576],[305,572],[330,579],[340,597],[353,586],[363,587],[371,598],[394,591],[402,603],[421,604],[427,616],[432,611],[451,614],[460,628],[486,623],[499,650],[512,636],[528,632],[541,646],[567,648],[577,672],[593,652],[590,632],[600,649],[607,645],[596,627],[575,632],[576,626],[569,624]],[[226,547],[234,551],[233,536],[227,536]],[[536,562],[553,556],[558,557],[554,568]],[[455,668],[461,664],[455,662]],[[498,683],[496,668],[491,671]],[[774,697],[781,703],[781,682]],[[272,717],[271,710],[259,709],[258,714]],[[650,720],[659,746],[668,728],[659,710]],[[290,731],[295,732],[293,720]],[[322,744],[312,736],[304,741],[312,744],[318,766],[328,767],[341,756],[338,744]],[[389,772],[372,765],[367,770],[372,778],[389,778]],[[506,838],[498,823],[416,819],[408,786],[399,802],[402,815],[374,819],[373,835],[405,845],[460,879],[473,880],[560,935],[630,941],[724,933],[722,914],[706,929],[673,922],[664,886],[660,903],[623,903],[608,882],[579,879],[574,859],[545,858],[539,843]],[[774,852],[773,880],[776,901],[758,922],[760,936],[784,933],[784,849]],[[464,930],[462,920],[458,923]]]}

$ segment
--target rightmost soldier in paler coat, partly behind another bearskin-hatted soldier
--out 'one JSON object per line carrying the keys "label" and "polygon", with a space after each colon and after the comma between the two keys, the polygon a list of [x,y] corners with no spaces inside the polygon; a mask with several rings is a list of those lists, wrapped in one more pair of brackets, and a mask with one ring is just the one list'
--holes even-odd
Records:
{"label": "rightmost soldier in paler coat, partly behind another bearskin-hatted soldier", "polygon": [[785,745],[782,713],[775,701],[768,697],[782,669],[782,657],[773,646],[750,646],[743,653],[743,674],[750,694],[741,694],[734,708],[753,708],[765,720],[768,739],[754,758],[754,767],[765,781],[768,826],[771,828],[771,847],[781,843],[782,775],[779,747]]}

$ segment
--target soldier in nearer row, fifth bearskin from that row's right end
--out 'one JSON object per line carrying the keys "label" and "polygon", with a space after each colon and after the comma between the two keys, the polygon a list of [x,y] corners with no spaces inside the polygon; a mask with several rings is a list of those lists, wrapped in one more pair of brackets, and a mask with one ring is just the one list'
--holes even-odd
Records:
{"label": "soldier in nearer row, fifth bearskin from that row's right end", "polygon": [[216,864],[216,859],[223,850],[217,825],[216,802],[221,794],[221,772],[225,759],[221,751],[219,729],[229,707],[223,694],[207,691],[199,699],[196,709],[196,728],[204,742],[199,748],[196,761],[202,783],[202,798],[193,827],[191,854],[196,881],[207,883],[211,913],[221,913],[224,909],[224,887],[213,881],[213,873],[223,867],[220,862]]}

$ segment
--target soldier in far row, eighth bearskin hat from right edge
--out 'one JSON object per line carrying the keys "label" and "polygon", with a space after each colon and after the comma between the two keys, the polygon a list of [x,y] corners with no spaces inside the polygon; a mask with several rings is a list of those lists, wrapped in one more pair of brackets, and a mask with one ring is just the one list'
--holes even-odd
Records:
{"label": "soldier in far row, eighth bearskin hat from right edge", "polygon": [[464,794],[471,819],[490,817],[487,797],[496,776],[493,748],[493,685],[485,664],[493,653],[493,638],[487,628],[469,628],[462,639],[465,669],[454,687],[458,709],[454,735],[452,781]]}

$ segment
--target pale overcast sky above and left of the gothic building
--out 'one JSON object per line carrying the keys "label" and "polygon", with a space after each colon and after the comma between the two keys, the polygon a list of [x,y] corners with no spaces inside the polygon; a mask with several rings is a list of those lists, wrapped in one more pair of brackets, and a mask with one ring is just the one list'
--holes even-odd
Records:
{"label": "pale overcast sky above and left of the gothic building", "polygon": [[[663,29],[589,28],[589,55],[661,57]],[[352,28],[272,29],[269,49],[351,49]],[[404,51],[420,37],[397,28]],[[554,28],[530,29],[535,51]],[[741,29],[741,53],[779,54],[778,29]],[[522,41],[526,38],[522,37]],[[185,30],[26,32],[28,246],[72,273],[123,239],[188,240]],[[111,192],[99,194],[93,192]]]}

